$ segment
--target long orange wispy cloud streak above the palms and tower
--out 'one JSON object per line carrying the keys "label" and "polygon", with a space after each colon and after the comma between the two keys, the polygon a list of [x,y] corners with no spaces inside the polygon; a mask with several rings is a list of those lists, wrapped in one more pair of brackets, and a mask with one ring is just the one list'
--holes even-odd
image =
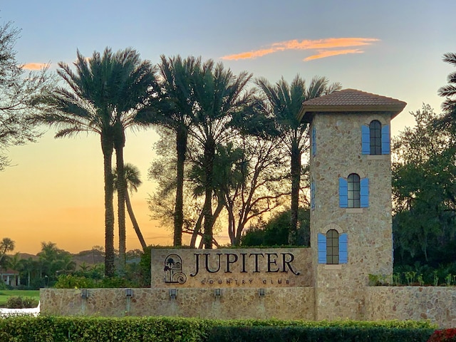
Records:
{"label": "long orange wispy cloud streak above the palms and tower", "polygon": [[[316,54],[304,58],[304,61],[311,61],[318,58],[326,58],[330,56],[337,56],[347,53],[363,53],[360,48],[353,48],[356,46],[367,46],[379,41],[377,38],[325,38],[325,39],[304,39],[298,41],[281,41],[279,43],[272,43],[266,48],[259,50],[247,51],[236,53],[234,55],[223,56],[222,59],[227,61],[237,61],[239,59],[258,58],[261,56],[269,55],[286,50],[316,50]],[[342,49],[346,48],[346,49]]]}

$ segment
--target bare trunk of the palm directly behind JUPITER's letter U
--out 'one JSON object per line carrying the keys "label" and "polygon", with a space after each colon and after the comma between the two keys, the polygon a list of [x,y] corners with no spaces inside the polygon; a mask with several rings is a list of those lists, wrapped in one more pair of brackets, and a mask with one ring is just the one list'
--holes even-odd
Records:
{"label": "bare trunk of the palm directly behind JUPITER's letter U", "polygon": [[214,225],[214,217],[212,214],[212,173],[214,170],[214,155],[215,142],[213,139],[208,139],[204,146],[204,248],[212,249],[212,227]]}

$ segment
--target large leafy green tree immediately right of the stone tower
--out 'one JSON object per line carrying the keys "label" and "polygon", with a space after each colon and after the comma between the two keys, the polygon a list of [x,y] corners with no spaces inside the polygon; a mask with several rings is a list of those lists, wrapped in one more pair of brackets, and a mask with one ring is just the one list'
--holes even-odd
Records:
{"label": "large leafy green tree immediately right of the stone tower", "polygon": [[393,140],[395,264],[437,264],[455,257],[456,140],[430,105],[411,114],[415,127]]}

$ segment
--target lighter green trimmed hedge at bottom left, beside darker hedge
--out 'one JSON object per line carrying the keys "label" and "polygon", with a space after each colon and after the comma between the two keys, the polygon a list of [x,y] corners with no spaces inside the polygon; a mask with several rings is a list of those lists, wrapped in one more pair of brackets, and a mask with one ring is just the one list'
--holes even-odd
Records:
{"label": "lighter green trimmed hedge at bottom left, beside darker hedge", "polygon": [[5,341],[199,342],[205,324],[197,318],[16,316],[0,319],[0,336],[11,336]]}

